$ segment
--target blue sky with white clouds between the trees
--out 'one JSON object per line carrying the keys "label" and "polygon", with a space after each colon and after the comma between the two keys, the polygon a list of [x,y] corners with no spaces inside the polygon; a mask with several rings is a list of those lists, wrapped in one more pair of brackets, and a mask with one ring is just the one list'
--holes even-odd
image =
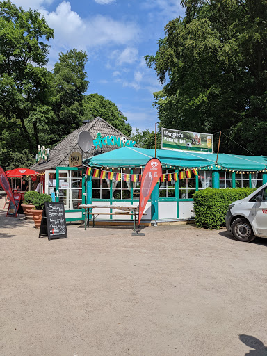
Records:
{"label": "blue sky with white clouds between the trees", "polygon": [[159,122],[153,92],[161,90],[144,56],[156,54],[164,27],[184,16],[180,0],[11,0],[39,10],[54,29],[48,67],[58,54],[82,49],[88,55],[88,94],[114,102],[133,127],[154,130]]}

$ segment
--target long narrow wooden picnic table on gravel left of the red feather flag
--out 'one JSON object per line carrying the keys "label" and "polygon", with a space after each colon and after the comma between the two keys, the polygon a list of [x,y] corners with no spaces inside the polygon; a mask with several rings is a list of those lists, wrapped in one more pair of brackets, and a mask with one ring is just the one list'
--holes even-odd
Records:
{"label": "long narrow wooden picnic table on gravel left of the red feather flag", "polygon": [[[89,227],[90,223],[90,215],[92,215],[92,226],[95,227],[95,219],[99,215],[131,215],[133,216],[133,229],[136,231],[136,213],[139,211],[139,207],[133,205],[94,205],[94,204],[81,204],[79,208],[85,209],[85,217],[84,217],[84,229],[86,229],[86,223]],[[106,209],[117,209],[122,212],[115,212],[115,213],[97,213],[92,212],[92,209],[99,209],[99,208],[106,208]]]}

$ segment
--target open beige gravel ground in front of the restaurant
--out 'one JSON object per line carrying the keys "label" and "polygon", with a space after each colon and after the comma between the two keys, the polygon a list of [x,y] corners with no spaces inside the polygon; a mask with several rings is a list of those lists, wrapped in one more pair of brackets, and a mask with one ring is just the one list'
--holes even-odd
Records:
{"label": "open beige gravel ground in front of the restaurant", "polygon": [[267,239],[68,225],[38,238],[0,199],[0,356],[267,355]]}

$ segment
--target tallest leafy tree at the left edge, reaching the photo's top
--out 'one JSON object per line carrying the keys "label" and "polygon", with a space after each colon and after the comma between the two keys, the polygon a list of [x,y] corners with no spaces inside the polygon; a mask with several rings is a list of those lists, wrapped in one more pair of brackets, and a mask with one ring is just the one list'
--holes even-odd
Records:
{"label": "tallest leafy tree at the left edge, reaching the photo's top", "polygon": [[13,148],[19,144],[30,154],[38,144],[38,116],[31,114],[48,99],[49,72],[44,66],[49,45],[44,40],[51,38],[54,31],[38,11],[17,8],[9,0],[0,2],[1,129],[13,122],[19,132]]}

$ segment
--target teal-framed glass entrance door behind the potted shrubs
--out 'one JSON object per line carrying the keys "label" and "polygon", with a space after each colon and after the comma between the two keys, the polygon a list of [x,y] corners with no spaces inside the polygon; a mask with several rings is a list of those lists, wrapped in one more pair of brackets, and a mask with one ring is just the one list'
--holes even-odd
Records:
{"label": "teal-framed glass entrance door behind the potted shrubs", "polygon": [[65,211],[79,209],[85,202],[83,168],[56,168],[56,202],[63,202]]}

